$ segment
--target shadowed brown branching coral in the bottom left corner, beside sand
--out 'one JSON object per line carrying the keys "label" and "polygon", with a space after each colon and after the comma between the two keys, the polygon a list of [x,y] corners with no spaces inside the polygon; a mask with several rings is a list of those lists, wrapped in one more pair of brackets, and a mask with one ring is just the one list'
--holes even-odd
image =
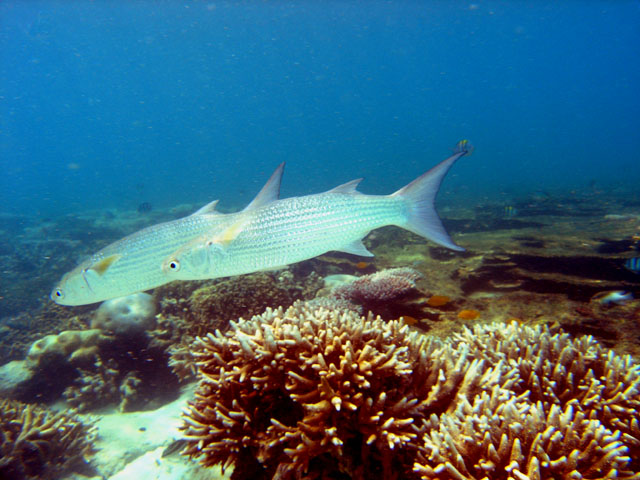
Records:
{"label": "shadowed brown branching coral in the bottom left corner, beside sand", "polygon": [[74,415],[17,400],[0,401],[0,477],[60,478],[94,453],[93,427]]}

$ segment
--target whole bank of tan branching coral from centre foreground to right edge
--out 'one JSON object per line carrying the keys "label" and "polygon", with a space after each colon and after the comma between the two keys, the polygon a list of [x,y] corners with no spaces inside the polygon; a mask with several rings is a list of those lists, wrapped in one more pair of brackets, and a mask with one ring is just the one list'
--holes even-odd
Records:
{"label": "whole bank of tan branching coral from centre foreground to right edge", "polygon": [[640,366],[513,323],[440,342],[296,303],[196,340],[184,453],[232,478],[640,479]]}

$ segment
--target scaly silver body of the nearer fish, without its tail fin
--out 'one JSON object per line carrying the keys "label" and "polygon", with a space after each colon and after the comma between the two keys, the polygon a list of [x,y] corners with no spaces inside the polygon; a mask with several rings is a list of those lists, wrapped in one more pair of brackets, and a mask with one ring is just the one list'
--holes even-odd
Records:
{"label": "scaly silver body of the nearer fish, without its tail fin", "polygon": [[[361,239],[403,223],[406,210],[402,199],[391,196],[327,192],[278,200],[229,215],[218,225],[218,240],[209,232],[182,246],[163,270],[175,279],[197,280],[275,269],[332,250],[371,256]],[[241,230],[237,236],[224,238],[235,229]]]}

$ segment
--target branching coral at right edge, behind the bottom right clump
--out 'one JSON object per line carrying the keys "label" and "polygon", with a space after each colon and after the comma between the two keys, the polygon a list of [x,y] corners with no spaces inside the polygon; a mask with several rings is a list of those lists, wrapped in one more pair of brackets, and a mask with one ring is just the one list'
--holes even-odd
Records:
{"label": "branching coral at right edge, behind the bottom right clump", "polygon": [[530,392],[546,410],[575,402],[587,418],[619,430],[640,470],[640,365],[629,355],[616,355],[590,335],[572,338],[516,322],[465,328],[455,338],[471,347],[472,357],[517,368],[517,394]]}

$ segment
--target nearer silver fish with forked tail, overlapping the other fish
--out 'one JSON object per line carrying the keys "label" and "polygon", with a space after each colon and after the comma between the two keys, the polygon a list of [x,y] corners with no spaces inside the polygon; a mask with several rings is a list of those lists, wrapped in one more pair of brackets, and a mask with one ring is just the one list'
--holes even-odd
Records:
{"label": "nearer silver fish with forked tail, overlapping the other fish", "polygon": [[[376,228],[396,225],[452,250],[434,200],[449,168],[471,150],[463,140],[454,154],[391,195],[364,195],[353,180],[325,193],[267,202],[227,215],[210,231],[186,243],[162,263],[172,279],[196,280],[280,268],[328,251],[373,256],[362,239]],[[271,181],[280,185],[284,165]],[[278,179],[276,181],[276,179]]]}

